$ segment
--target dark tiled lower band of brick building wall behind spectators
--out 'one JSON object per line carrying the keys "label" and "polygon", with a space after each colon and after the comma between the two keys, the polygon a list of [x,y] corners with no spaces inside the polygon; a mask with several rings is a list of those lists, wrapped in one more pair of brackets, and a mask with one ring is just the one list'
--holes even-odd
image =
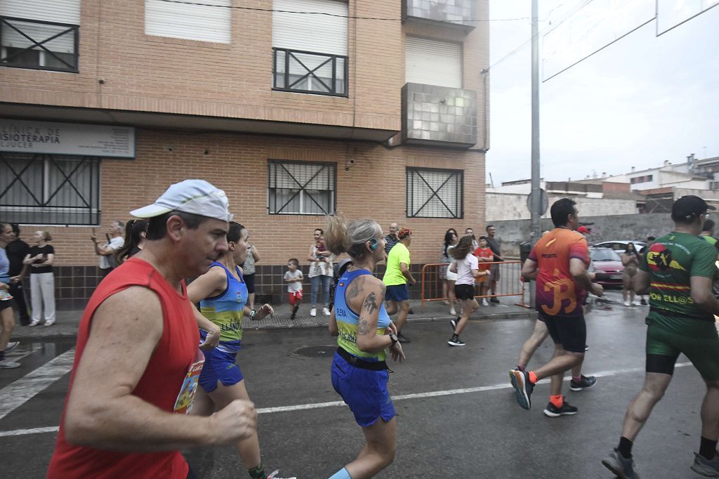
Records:
{"label": "dark tiled lower band of brick building wall behind spectators", "polygon": [[[418,282],[420,280],[422,266],[423,265],[410,266],[410,270]],[[310,281],[307,276],[308,266],[303,265],[301,269],[305,276],[303,282],[304,301],[307,302],[310,300],[309,295],[311,292]],[[272,304],[281,304],[288,301],[287,285],[283,280],[286,270],[287,267],[285,265],[257,265],[255,271],[255,293],[257,294],[257,299],[255,302],[267,301]],[[384,272],[385,265],[377,265],[375,275],[382,278]],[[101,279],[97,266],[56,266],[54,273],[55,306],[58,310],[65,311],[83,309]],[[430,276],[436,278],[436,273]],[[436,281],[434,278],[427,279],[428,287],[434,286]],[[24,284],[27,288],[26,293],[32,294],[29,279],[26,279]],[[410,298],[418,299],[419,297],[420,285],[417,283],[410,288]]]}

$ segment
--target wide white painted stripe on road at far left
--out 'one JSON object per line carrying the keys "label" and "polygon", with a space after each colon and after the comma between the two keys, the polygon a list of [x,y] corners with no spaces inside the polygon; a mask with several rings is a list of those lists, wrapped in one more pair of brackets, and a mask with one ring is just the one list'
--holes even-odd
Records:
{"label": "wide white painted stripe on road at far left", "polygon": [[0,420],[73,368],[75,348],[46,362],[36,370],[0,390]]}

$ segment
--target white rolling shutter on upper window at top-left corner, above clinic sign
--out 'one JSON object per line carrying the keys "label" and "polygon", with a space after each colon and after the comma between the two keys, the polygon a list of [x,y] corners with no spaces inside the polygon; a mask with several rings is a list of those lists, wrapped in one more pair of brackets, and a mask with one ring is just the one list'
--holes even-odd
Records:
{"label": "white rolling shutter on upper window at top-left corner, above clinic sign", "polygon": [[[0,15],[44,22],[80,24],[80,0],[0,0]],[[12,20],[12,24],[37,42],[54,37],[67,27],[40,23],[26,23]],[[2,45],[5,47],[27,48],[32,42],[10,27],[2,29]],[[71,32],[44,42],[48,50],[59,53],[75,53],[75,35]]]}

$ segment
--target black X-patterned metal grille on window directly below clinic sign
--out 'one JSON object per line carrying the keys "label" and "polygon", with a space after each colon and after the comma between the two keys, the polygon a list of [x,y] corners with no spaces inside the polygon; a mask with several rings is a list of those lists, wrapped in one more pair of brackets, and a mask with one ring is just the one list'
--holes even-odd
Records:
{"label": "black X-patterned metal grille on window directly below clinic sign", "polygon": [[[27,165],[24,166],[24,168],[15,171],[12,166],[9,165],[8,158],[6,156],[27,156],[29,158],[29,162]],[[49,173],[49,169],[52,166],[50,163],[55,162],[55,158],[63,159],[63,158],[70,158],[70,159],[78,159],[78,165],[73,168],[69,174],[65,174],[65,171],[59,168],[57,164],[55,164],[55,168],[57,168],[63,175],[64,179],[63,181],[60,181],[60,184],[54,188],[50,188],[50,179],[51,175]],[[22,173],[24,173],[25,170],[27,170],[30,165],[35,163],[36,160],[42,161],[42,173],[40,178],[40,183],[42,187],[42,192],[37,195],[33,193],[33,191],[30,190],[29,186],[27,186],[27,183],[25,183],[22,178]],[[48,163],[50,162],[50,163]],[[90,188],[88,192],[88,196],[90,196],[89,199],[86,199],[80,191],[78,191],[78,188],[76,188],[75,184],[73,184],[72,177],[74,173],[86,162],[90,162],[90,168],[91,168],[91,178],[89,180]],[[42,216],[42,221],[32,221],[32,222],[17,222],[20,224],[47,224],[47,225],[64,225],[64,226],[98,226],[101,222],[101,181],[102,181],[102,160],[100,157],[97,156],[83,156],[83,155],[55,155],[55,154],[47,154],[47,153],[16,153],[16,152],[2,152],[0,151],[0,166],[7,166],[9,168],[9,173],[11,175],[14,175],[14,178],[12,181],[9,181],[8,185],[0,190],[0,216],[7,217],[8,215],[6,213],[27,213],[27,212],[33,212],[35,209],[40,210],[40,215]],[[5,200],[3,199],[4,195],[9,191],[9,188],[11,188],[14,183],[19,181],[19,183],[22,183],[22,186],[24,186],[24,189],[29,193],[29,195],[36,201],[36,204],[6,204]],[[74,205],[66,205],[66,206],[58,206],[53,205],[49,206],[48,203],[55,199],[55,195],[58,194],[61,188],[65,186],[65,183],[69,183],[70,186],[75,190],[75,193],[78,194],[78,197],[86,204],[85,207],[83,206],[74,206]],[[40,196],[40,199],[42,201],[39,201],[37,199],[37,196]],[[89,203],[88,203],[89,201]],[[62,214],[68,214],[71,213],[71,211],[68,211],[70,209],[81,209],[84,211],[81,211],[82,216],[86,216],[86,219],[88,221],[84,222],[60,222],[57,221],[57,219],[53,218],[53,216],[61,216]],[[67,219],[67,218],[65,218]]]}

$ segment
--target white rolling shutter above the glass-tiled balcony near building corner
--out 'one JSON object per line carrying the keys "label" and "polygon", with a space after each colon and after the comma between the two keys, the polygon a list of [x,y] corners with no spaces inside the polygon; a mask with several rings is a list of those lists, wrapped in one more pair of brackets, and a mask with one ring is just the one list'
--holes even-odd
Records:
{"label": "white rolling shutter above the glass-tiled balcony near building corner", "polygon": [[407,83],[462,88],[462,45],[407,37]]}

